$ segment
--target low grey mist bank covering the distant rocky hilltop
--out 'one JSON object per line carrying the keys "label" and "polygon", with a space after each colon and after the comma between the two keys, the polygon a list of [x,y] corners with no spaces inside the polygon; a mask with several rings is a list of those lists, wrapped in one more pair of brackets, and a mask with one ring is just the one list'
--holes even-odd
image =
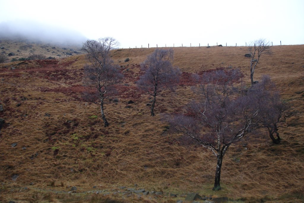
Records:
{"label": "low grey mist bank covering the distant rocky hilltop", "polygon": [[74,46],[81,46],[87,39],[75,30],[26,20],[0,23],[0,37]]}

